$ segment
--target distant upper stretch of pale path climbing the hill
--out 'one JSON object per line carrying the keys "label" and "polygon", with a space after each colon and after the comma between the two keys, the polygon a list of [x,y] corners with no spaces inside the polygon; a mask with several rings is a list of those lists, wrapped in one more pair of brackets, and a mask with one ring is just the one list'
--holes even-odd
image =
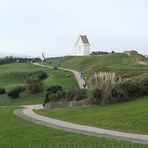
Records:
{"label": "distant upper stretch of pale path climbing the hill", "polygon": [[[47,66],[47,65],[43,65],[43,64],[39,64],[39,63],[33,63],[34,65],[36,66],[40,66],[40,67],[45,67],[45,68],[53,68],[51,66]],[[75,78],[79,84],[79,87],[80,89],[83,89],[83,83],[85,82],[84,79],[82,77],[80,77],[80,73],[78,71],[75,71],[75,70],[70,70],[70,69],[65,69],[65,68],[59,68],[58,69],[61,69],[61,70],[65,70],[65,71],[70,71],[72,72],[74,75],[75,75]],[[86,89],[88,89],[88,87],[86,86]]]}

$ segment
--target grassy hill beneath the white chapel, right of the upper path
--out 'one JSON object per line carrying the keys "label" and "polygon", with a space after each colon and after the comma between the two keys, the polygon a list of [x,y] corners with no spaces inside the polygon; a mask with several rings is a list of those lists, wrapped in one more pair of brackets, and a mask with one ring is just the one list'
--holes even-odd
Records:
{"label": "grassy hill beneath the white chapel, right of the upper path", "polygon": [[114,53],[97,56],[67,56],[52,58],[48,64],[60,64],[61,67],[83,71],[87,77],[98,71],[113,71],[123,77],[133,77],[148,73],[148,65],[140,64],[139,61],[148,63],[147,58],[140,54],[128,56],[124,53]]}

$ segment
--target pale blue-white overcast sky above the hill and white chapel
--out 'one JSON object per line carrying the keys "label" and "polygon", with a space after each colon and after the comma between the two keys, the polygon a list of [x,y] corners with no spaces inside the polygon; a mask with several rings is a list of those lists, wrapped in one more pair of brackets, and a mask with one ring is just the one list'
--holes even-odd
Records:
{"label": "pale blue-white overcast sky above the hill and white chapel", "polygon": [[148,55],[148,0],[0,0],[0,55],[71,55],[79,35]]}

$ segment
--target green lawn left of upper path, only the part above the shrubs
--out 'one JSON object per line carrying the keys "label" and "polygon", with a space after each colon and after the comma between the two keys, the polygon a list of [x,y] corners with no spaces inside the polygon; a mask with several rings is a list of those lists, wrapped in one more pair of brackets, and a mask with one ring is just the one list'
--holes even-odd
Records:
{"label": "green lawn left of upper path, only the part above the shrubs", "polygon": [[[24,85],[24,77],[34,71],[45,71],[48,78],[44,80],[45,86],[61,85],[64,89],[78,88],[77,81],[71,72],[53,70],[29,64],[5,64],[0,65],[0,87],[11,88]],[[70,77],[66,74],[69,73]]]}

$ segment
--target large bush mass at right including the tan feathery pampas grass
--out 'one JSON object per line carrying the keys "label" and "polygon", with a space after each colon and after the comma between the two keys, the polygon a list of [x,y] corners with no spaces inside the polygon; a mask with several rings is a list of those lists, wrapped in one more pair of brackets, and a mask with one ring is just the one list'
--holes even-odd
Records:
{"label": "large bush mass at right including the tan feathery pampas grass", "polygon": [[[98,86],[90,92],[90,99],[94,104],[118,103],[148,95],[148,75],[146,74],[131,79],[113,81],[113,85],[109,85],[108,79],[101,79],[98,75],[95,75],[94,82],[96,80],[100,80],[97,82]],[[104,82],[105,80],[107,83]]]}

